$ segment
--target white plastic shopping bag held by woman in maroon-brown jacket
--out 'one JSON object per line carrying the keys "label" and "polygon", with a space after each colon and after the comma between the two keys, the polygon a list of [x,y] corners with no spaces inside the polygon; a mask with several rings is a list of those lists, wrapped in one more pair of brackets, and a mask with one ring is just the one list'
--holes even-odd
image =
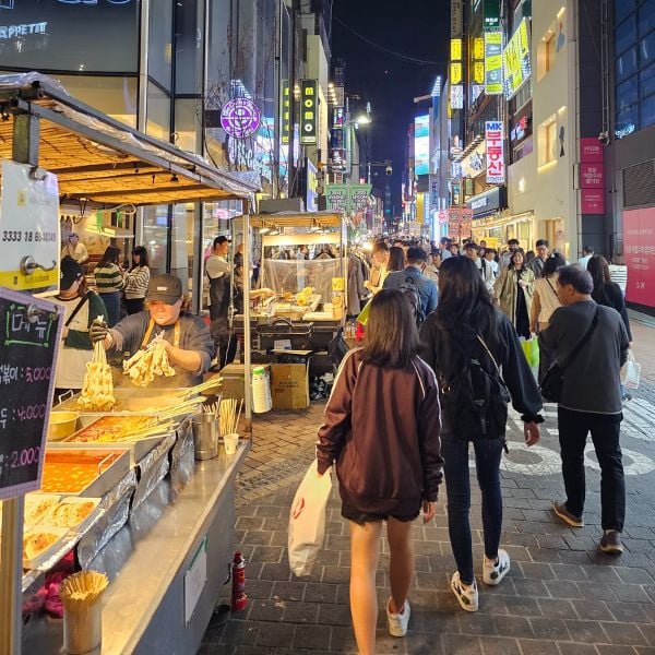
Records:
{"label": "white plastic shopping bag held by woman in maroon-brown jacket", "polygon": [[289,569],[296,575],[311,575],[325,537],[325,508],[332,478],[319,476],[314,460],[305,474],[289,512]]}

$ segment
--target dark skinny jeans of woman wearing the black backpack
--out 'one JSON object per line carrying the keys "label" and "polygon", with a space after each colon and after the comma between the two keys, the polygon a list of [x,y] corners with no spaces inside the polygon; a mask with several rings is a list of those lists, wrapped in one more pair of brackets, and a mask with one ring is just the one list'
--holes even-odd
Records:
{"label": "dark skinny jeans of woman wearing the black backpack", "polygon": [[[485,555],[498,557],[502,528],[502,495],[500,492],[501,439],[479,439],[473,442],[477,479],[483,493],[483,526]],[[448,531],[457,571],[464,584],[472,584],[473,545],[471,539],[471,478],[468,442],[445,438],[441,443],[443,474],[448,492]]]}

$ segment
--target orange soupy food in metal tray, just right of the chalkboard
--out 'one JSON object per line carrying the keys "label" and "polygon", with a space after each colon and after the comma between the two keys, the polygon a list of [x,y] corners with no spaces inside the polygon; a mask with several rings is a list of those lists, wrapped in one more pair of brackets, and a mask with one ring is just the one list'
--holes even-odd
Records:
{"label": "orange soupy food in metal tray, just right of the chalkboard", "polygon": [[88,453],[46,452],[41,491],[47,493],[79,493],[98,477],[98,465],[108,467],[120,453],[93,455]]}

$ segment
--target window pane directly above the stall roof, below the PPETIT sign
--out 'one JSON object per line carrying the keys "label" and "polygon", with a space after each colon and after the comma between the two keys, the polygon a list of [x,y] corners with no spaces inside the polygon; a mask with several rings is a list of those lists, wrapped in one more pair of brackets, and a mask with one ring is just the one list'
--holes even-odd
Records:
{"label": "window pane directly above the stall roof, below the PPETIT sign", "polygon": [[57,75],[66,90],[94,109],[136,127],[136,78]]}

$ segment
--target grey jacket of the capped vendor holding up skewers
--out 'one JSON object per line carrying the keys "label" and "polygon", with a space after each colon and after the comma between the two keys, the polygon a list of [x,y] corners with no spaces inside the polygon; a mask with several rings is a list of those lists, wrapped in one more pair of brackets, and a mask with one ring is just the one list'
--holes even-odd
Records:
{"label": "grey jacket of the capped vendor holding up skewers", "polygon": [[[150,323],[150,312],[140,311],[139,313],[129,315],[117,323],[109,333],[114,338],[114,346],[108,350],[110,354],[129,353],[134,355],[141,348],[141,342],[145,336]],[[175,325],[157,325],[153,329],[150,341],[155,336],[164,333],[164,338],[167,342],[174,343]],[[160,378],[155,380],[155,385],[165,386],[193,386],[202,382],[202,377],[210,368],[212,361],[212,353],[214,350],[214,342],[210,334],[210,329],[205,322],[192,314],[180,314],[180,343],[179,347],[183,350],[195,350],[200,354],[201,367],[195,373],[186,371],[184,369],[174,366],[176,376],[174,378]]]}

